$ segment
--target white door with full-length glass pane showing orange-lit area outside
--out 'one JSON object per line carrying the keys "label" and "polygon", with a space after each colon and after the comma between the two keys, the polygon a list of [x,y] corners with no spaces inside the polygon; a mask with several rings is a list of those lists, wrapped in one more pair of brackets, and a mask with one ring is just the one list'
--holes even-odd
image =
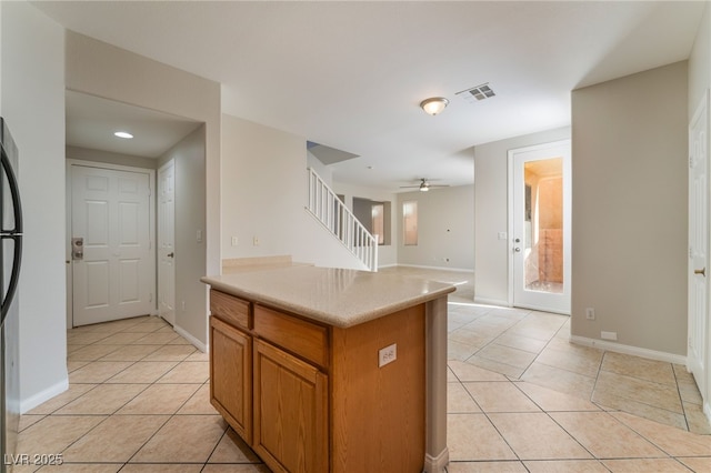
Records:
{"label": "white door with full-length glass pane showing orange-lit area outside", "polygon": [[570,314],[570,140],[509,151],[509,299]]}

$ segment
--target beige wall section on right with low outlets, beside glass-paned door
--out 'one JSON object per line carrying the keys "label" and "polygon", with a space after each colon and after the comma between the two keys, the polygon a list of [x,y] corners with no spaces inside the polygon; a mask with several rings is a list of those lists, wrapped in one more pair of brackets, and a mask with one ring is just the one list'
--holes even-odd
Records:
{"label": "beige wall section on right with low outlets, beside glass-paned door", "polygon": [[574,336],[687,353],[687,100],[685,61],[572,93]]}

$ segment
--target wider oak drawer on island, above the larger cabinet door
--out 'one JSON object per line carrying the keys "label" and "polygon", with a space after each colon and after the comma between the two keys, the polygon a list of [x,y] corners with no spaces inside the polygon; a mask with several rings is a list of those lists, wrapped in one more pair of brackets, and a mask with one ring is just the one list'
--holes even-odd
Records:
{"label": "wider oak drawer on island, above the larger cabinet door", "polygon": [[319,366],[328,366],[329,335],[326,326],[256,305],[254,332]]}

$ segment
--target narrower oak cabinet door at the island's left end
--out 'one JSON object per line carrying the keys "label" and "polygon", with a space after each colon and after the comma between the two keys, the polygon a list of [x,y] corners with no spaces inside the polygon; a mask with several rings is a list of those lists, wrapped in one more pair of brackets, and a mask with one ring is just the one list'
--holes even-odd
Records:
{"label": "narrower oak cabinet door at the island's left end", "polygon": [[210,402],[247,442],[252,434],[252,339],[210,318]]}

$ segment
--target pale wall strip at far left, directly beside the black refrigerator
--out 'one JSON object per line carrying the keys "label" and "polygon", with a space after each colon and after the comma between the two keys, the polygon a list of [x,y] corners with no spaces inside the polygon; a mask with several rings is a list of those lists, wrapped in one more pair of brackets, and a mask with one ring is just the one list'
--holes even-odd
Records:
{"label": "pale wall strip at far left, directly beside the black refrigerator", "polygon": [[[64,30],[27,2],[0,2],[2,108],[20,153],[20,410],[64,391]],[[11,400],[17,402],[17,400]]]}

